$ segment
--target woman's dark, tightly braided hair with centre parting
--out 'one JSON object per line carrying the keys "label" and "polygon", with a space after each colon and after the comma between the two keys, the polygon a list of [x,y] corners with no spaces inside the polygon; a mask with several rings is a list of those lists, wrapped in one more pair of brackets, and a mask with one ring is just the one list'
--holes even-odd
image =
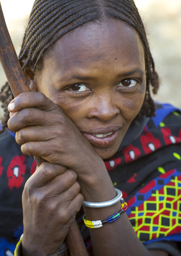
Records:
{"label": "woman's dark, tightly braided hair with centre parting", "polygon": [[[20,61],[26,58],[22,68],[30,65],[32,71],[41,70],[43,57],[60,37],[87,22],[105,18],[123,20],[138,32],[144,46],[146,69],[146,95],[139,115],[154,116],[155,105],[150,95],[150,87],[156,94],[159,79],[145,28],[133,0],[36,0],[19,54]],[[7,105],[12,98],[9,84],[6,83],[0,92],[0,101],[5,112],[2,130],[7,127]]]}

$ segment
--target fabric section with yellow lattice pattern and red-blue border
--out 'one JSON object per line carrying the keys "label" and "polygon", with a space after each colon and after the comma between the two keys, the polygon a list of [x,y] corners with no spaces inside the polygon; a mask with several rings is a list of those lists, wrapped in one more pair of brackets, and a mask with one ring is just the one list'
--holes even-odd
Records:
{"label": "fabric section with yellow lattice pattern and red-blue border", "polygon": [[128,201],[128,217],[142,242],[181,232],[181,173],[167,171]]}

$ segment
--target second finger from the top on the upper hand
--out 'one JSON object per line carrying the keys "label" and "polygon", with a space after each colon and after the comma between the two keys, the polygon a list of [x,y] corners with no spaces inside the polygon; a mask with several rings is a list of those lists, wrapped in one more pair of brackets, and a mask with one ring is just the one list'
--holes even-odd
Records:
{"label": "second finger from the top on the upper hand", "polygon": [[45,111],[37,108],[25,108],[11,116],[7,124],[10,130],[18,132],[20,129],[27,126],[49,127],[52,119],[47,117],[47,112]]}

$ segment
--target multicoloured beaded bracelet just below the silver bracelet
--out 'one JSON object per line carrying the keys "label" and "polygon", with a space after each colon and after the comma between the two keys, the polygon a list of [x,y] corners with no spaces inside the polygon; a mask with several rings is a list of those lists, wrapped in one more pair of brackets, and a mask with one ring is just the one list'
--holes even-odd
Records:
{"label": "multicoloured beaded bracelet just below the silver bracelet", "polygon": [[87,220],[86,219],[86,215],[83,216],[83,221],[84,224],[86,225],[86,227],[89,227],[90,229],[97,229],[98,227],[102,227],[103,224],[105,223],[112,223],[115,220],[119,219],[120,215],[122,213],[124,213],[128,208],[127,203],[124,201],[124,199],[121,199],[121,210],[119,211],[119,213],[114,213],[113,215],[107,217],[106,220],[96,220],[96,221],[91,221],[91,220]]}

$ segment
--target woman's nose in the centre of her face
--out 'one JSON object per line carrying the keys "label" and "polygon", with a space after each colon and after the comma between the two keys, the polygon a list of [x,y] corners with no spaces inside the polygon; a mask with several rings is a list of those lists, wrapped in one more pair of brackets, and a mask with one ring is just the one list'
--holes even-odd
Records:
{"label": "woman's nose in the centre of her face", "polygon": [[108,122],[119,113],[120,110],[110,95],[99,95],[92,102],[87,118],[97,117],[103,122]]}

